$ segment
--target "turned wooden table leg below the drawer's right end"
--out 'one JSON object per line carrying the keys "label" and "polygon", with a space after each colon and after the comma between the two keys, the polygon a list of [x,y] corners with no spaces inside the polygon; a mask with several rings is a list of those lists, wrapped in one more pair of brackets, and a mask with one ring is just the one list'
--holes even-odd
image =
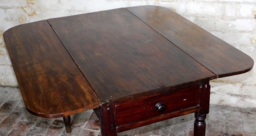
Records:
{"label": "turned wooden table leg below the drawer's right end", "polygon": [[204,115],[198,115],[198,113],[195,113],[195,123],[194,123],[194,135],[195,136],[205,136],[205,118],[206,114]]}

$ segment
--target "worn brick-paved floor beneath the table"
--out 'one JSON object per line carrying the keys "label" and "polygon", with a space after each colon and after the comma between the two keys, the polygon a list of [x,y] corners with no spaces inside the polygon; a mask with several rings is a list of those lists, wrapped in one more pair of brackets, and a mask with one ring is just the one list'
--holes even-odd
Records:
{"label": "worn brick-paved floor beneath the table", "polygon": [[[118,135],[193,135],[194,115],[175,117]],[[206,135],[255,135],[256,109],[211,105]],[[93,110],[72,116],[72,133],[66,133],[62,118],[44,119],[29,114],[19,88],[0,86],[0,136],[4,135],[100,135],[100,123]]]}

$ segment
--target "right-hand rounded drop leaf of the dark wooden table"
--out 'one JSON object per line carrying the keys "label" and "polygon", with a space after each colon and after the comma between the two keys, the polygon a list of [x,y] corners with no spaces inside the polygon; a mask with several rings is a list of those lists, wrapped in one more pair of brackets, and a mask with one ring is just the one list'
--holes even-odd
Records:
{"label": "right-hand rounded drop leaf of the dark wooden table", "polygon": [[219,78],[245,73],[253,67],[251,57],[168,8],[138,6],[127,10]]}

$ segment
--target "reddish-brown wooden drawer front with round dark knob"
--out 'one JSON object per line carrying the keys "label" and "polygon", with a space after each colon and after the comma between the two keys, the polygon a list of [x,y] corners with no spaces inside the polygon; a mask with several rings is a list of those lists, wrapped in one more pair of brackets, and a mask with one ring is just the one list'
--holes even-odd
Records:
{"label": "reddish-brown wooden drawer front with round dark knob", "polygon": [[116,103],[116,126],[136,123],[151,117],[195,107],[199,104],[199,96],[200,85],[196,84],[185,89],[154,94],[130,102]]}

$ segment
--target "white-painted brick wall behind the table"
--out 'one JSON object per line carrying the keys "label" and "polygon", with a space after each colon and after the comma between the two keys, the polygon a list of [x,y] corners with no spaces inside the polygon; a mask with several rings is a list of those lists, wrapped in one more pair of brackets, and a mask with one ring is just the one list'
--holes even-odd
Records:
{"label": "white-painted brick wall behind the table", "polygon": [[[256,0],[0,0],[0,85],[17,86],[3,42],[10,27],[127,6],[158,5],[176,11],[251,56],[256,62]],[[212,80],[211,103],[256,108],[256,72]]]}

